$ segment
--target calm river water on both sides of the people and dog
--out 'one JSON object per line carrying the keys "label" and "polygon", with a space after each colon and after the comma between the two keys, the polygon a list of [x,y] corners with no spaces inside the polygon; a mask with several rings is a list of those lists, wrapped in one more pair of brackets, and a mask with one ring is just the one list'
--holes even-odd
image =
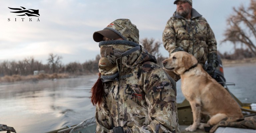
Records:
{"label": "calm river water on both sides of the people and dog", "polygon": [[[224,67],[229,90],[244,103],[256,103],[256,64]],[[0,84],[0,124],[17,133],[45,133],[94,116],[90,88],[97,75]],[[177,102],[184,100],[177,82]]]}

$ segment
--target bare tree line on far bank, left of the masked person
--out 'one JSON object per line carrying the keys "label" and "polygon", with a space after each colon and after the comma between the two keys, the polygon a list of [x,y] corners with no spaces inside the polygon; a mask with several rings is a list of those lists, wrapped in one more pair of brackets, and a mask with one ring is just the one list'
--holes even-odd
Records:
{"label": "bare tree line on far bank, left of the masked person", "polygon": [[74,75],[82,75],[88,73],[96,73],[98,70],[99,55],[95,60],[85,63],[71,62],[67,65],[61,63],[61,56],[49,54],[47,64],[35,60],[33,57],[25,58],[22,61],[3,61],[0,63],[0,76],[4,75],[33,75],[34,71],[43,70],[44,73],[70,73]]}

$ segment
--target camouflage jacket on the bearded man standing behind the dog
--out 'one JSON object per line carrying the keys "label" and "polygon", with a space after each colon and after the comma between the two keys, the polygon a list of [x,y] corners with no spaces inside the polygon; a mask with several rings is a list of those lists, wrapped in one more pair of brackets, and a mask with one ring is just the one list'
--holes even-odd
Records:
{"label": "camouflage jacket on the bearded man standing behind the dog", "polygon": [[204,65],[207,55],[217,54],[217,43],[209,24],[192,8],[191,19],[185,19],[174,13],[164,29],[163,44],[171,54],[178,47],[194,55],[198,63]]}

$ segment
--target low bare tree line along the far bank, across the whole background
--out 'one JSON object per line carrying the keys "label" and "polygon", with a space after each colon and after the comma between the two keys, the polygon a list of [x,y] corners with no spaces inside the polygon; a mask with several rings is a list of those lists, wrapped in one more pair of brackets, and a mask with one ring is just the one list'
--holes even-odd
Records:
{"label": "low bare tree line along the far bank, across the whole background", "polygon": [[[162,61],[168,57],[163,57],[159,48],[162,46],[160,41],[155,39],[142,39],[140,44],[152,55],[155,55],[157,62],[162,66]],[[235,49],[233,54],[218,53],[222,59],[244,59],[255,57],[249,49]],[[63,65],[61,60],[63,58],[52,53],[49,54],[47,64],[42,64],[41,61],[35,60],[33,57],[25,58],[22,61],[3,61],[0,63],[0,76],[4,75],[33,75],[35,70],[43,70],[45,73],[69,73],[73,75],[94,74],[98,72],[98,63],[100,55],[95,57],[95,60],[89,60],[84,63],[70,62]]]}

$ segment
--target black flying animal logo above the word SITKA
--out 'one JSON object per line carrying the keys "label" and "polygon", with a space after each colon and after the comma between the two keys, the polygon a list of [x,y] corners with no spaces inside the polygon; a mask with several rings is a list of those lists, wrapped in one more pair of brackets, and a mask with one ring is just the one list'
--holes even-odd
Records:
{"label": "black flying animal logo above the word SITKA", "polygon": [[[10,7],[8,7],[10,8]],[[23,8],[23,9],[21,9]],[[34,10],[34,9],[26,9],[24,7],[21,7],[21,8],[10,8],[12,10],[19,10],[19,11],[16,11],[16,12],[12,12],[12,13],[23,13],[22,15],[17,15],[17,16],[36,16],[36,17],[39,17],[39,10]]]}

